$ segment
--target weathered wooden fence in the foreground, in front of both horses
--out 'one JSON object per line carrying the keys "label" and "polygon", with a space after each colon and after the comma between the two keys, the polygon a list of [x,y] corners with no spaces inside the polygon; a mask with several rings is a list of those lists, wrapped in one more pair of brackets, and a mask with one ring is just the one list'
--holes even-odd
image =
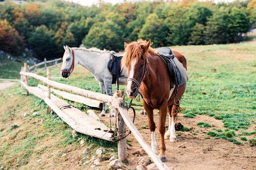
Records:
{"label": "weathered wooden fence in the foreground, in front of both horses", "polygon": [[[65,111],[61,106],[63,106],[63,101],[61,101],[58,97],[54,96],[53,94],[50,94],[51,90],[55,93],[56,90],[51,89],[51,87],[56,87],[61,90],[65,90],[68,92],[75,93],[76,96],[79,95],[79,97],[82,98],[89,98],[90,100],[99,101],[99,102],[106,102],[110,105],[110,109],[116,113],[117,116],[117,127],[118,127],[118,139],[125,136],[126,126],[131,130],[134,137],[137,139],[138,143],[141,145],[141,147],[144,149],[144,151],[152,158],[156,166],[159,170],[169,170],[169,168],[166,166],[166,164],[162,163],[159,159],[158,155],[154,153],[154,151],[149,147],[149,145],[145,142],[143,137],[138,132],[136,126],[133,124],[129,113],[127,109],[124,107],[124,91],[116,91],[113,96],[92,92],[89,90],[81,89],[79,87],[71,86],[71,85],[65,85],[62,83],[58,83],[50,79],[50,71],[49,68],[47,68],[47,77],[39,76],[35,73],[29,73],[27,72],[26,64],[24,64],[24,69],[20,71],[21,75],[21,86],[25,87],[27,90],[27,94],[32,93],[36,95],[37,97],[44,100],[44,102],[55,111],[57,115],[61,119],[63,119],[67,124],[69,124],[75,131],[79,133],[83,133],[86,135],[98,137],[105,140],[113,140],[113,134],[106,131],[104,129],[104,125],[97,123],[95,119],[98,119],[98,116],[95,114],[93,116],[85,116],[86,114],[80,114],[78,109],[76,108],[70,108],[71,106],[68,105],[68,112]],[[31,87],[28,85],[28,77],[33,77],[44,84],[46,84],[48,87],[39,85],[38,87]],[[47,93],[40,90],[46,90]],[[58,90],[59,91],[59,90]],[[62,92],[62,91],[60,91]],[[66,92],[65,92],[66,93]],[[65,96],[61,95],[64,98],[69,98],[69,100],[72,97],[72,95],[67,93]],[[75,96],[74,96],[75,97]],[[60,104],[61,103],[61,104]],[[65,104],[64,104],[65,105]],[[67,104],[66,104],[67,105]],[[72,110],[70,110],[72,109]],[[79,112],[74,113],[73,112]],[[78,116],[79,115],[79,116]],[[82,122],[82,123],[81,123]],[[99,122],[99,121],[98,121]],[[95,127],[97,126],[97,128]],[[99,130],[100,129],[100,130]],[[118,141],[118,157],[119,159],[127,163],[127,149],[126,149],[126,138],[123,138]]]}

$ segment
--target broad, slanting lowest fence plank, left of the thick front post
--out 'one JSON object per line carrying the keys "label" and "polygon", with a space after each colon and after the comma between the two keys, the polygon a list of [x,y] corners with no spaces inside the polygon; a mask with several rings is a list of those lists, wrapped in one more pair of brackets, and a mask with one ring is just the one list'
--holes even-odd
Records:
{"label": "broad, slanting lowest fence plank, left of the thick front post", "polygon": [[103,131],[108,130],[108,127],[106,127],[103,123],[81,112],[79,109],[69,105],[66,101],[59,99],[53,94],[51,94],[51,99],[49,99],[45,97],[47,95],[46,91],[43,91],[38,87],[28,86],[24,82],[20,83],[31,94],[43,99],[44,102],[49,105],[55,111],[55,113],[57,113],[58,116],[68,125],[70,125],[75,131],[85,135],[112,141],[112,134]]}

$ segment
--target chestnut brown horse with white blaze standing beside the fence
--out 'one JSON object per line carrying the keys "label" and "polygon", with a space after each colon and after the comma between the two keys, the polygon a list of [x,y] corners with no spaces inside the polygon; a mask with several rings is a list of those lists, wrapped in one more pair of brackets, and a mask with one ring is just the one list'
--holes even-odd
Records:
{"label": "chestnut brown horse with white blaze standing beside the fence", "polygon": [[[161,135],[160,157],[162,162],[166,161],[164,139],[176,142],[175,118],[177,116],[181,96],[185,92],[186,84],[177,88],[177,97],[171,87],[171,79],[168,69],[162,59],[155,54],[150,47],[151,41],[138,40],[130,44],[124,43],[125,54],[122,58],[122,67],[128,70],[128,82],[126,93],[129,98],[134,99],[138,90],[143,96],[143,107],[147,112],[149,129],[151,131],[151,148],[157,154],[157,142],[155,138],[156,124],[153,119],[153,110],[159,110],[159,133]],[[178,61],[187,69],[185,57],[173,51]],[[170,95],[171,94],[171,95]],[[165,133],[166,112],[169,112],[169,128]]]}

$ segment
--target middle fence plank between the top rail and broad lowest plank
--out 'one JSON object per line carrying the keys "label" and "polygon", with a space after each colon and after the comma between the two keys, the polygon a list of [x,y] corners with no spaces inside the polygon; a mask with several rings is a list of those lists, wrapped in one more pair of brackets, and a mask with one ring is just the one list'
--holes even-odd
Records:
{"label": "middle fence plank between the top rail and broad lowest plank", "polygon": [[[46,90],[47,87],[44,85],[38,85],[39,88]],[[62,96],[63,98],[73,101],[73,102],[80,102],[83,103],[85,105],[88,105],[90,107],[97,107],[102,109],[103,103],[99,102],[97,100],[93,100],[93,99],[88,99],[85,98],[83,96],[79,96],[79,95],[75,95],[75,94],[71,94],[71,93],[67,93],[64,91],[60,91],[60,90],[56,90],[54,88],[51,89],[54,93],[58,94],[59,96]]]}

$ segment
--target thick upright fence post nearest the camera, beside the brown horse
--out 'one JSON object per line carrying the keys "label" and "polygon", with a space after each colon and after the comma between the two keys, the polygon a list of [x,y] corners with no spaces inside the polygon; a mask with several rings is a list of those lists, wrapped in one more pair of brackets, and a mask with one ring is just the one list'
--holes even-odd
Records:
{"label": "thick upright fence post nearest the camera, beside the brown horse", "polygon": [[[124,91],[118,90],[117,92],[118,98],[122,98],[121,104],[124,106]],[[117,127],[118,127],[118,139],[125,136],[126,124],[120,115],[118,109],[116,110],[117,115]],[[123,162],[127,163],[127,148],[126,148],[126,138],[118,141],[118,158]]]}

